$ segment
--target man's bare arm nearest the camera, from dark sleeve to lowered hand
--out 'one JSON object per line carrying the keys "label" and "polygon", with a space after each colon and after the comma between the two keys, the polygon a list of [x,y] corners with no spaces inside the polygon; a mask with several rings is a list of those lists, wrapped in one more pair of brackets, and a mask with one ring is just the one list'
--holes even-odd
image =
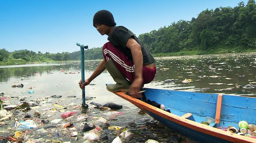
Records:
{"label": "man's bare arm nearest the camera, from dark sleeve to lowered hand", "polygon": [[132,59],[135,66],[135,77],[134,81],[130,85],[130,92],[129,94],[134,98],[141,98],[142,95],[140,92],[140,88],[143,84],[143,77],[142,77],[142,70],[143,70],[143,56],[142,56],[142,49],[140,44],[135,41],[133,38],[130,38],[127,43],[126,47],[131,50]]}

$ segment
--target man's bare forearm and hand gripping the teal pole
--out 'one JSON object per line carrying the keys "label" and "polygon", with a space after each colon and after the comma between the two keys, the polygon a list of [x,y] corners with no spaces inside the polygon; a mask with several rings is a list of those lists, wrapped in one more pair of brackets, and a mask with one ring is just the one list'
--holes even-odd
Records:
{"label": "man's bare forearm and hand gripping the teal pole", "polygon": [[86,85],[89,85],[89,83],[95,79],[98,75],[100,75],[106,68],[105,68],[105,60],[102,60],[99,66],[94,70],[93,74],[85,80],[85,82],[82,84],[81,80],[79,82],[80,88],[84,88]]}

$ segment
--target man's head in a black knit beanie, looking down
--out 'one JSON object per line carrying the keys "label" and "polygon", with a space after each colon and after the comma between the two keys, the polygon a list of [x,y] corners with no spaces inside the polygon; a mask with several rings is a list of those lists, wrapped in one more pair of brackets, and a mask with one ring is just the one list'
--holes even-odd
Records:
{"label": "man's head in a black knit beanie, looking down", "polygon": [[111,27],[115,25],[112,13],[107,10],[100,10],[93,17],[93,26],[101,35],[109,35]]}

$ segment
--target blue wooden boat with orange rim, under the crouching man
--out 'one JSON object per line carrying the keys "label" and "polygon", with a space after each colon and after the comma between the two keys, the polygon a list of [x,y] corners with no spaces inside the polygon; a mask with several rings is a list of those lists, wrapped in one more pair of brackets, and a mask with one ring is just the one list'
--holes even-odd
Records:
{"label": "blue wooden boat with orange rim, under the crouching man", "polygon": [[[216,127],[234,126],[239,129],[238,122],[245,120],[256,124],[256,98],[184,92],[144,88],[144,98],[139,100],[125,92],[115,92],[116,95],[128,100],[144,110],[171,130],[174,130],[197,142],[236,142],[256,143],[256,139],[227,132]],[[150,105],[144,101],[155,101],[163,104],[165,110]],[[206,117],[215,119],[209,126],[201,124]]]}

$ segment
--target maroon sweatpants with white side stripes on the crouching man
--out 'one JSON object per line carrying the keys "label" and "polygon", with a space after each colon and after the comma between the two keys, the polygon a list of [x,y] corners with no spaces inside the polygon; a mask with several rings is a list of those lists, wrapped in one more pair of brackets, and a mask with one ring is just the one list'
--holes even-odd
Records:
{"label": "maroon sweatpants with white side stripes on the crouching man", "polygon": [[[128,56],[124,55],[111,42],[103,45],[103,56],[105,61],[112,59],[116,67],[121,73],[132,83],[135,76],[134,64],[128,60]],[[143,66],[143,84],[150,83],[155,78],[156,68],[149,69]]]}

